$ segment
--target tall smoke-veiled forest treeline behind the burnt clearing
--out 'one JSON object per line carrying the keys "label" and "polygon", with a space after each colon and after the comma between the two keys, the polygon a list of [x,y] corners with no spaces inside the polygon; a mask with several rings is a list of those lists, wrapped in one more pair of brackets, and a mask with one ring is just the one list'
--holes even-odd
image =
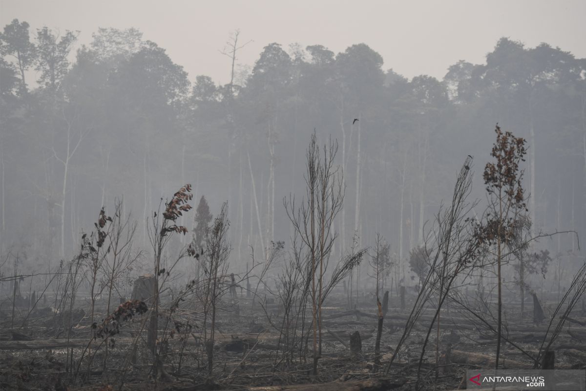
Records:
{"label": "tall smoke-veiled forest treeline behind the burnt clearing", "polygon": [[[78,34],[15,19],[0,35],[0,253],[28,254],[32,268],[71,256],[115,198],[148,243],[147,217],[184,183],[212,211],[227,200],[236,263],[249,245],[288,242],[283,199],[304,195],[314,129],[339,142],[338,253],[380,232],[406,259],[466,156],[482,171],[496,123],[527,140],[535,232],[585,232],[586,59],[558,47],[502,38],[483,64],[408,80],[364,43],[337,54],[270,43],[243,74],[234,65],[246,39],[233,33],[231,81],[218,85],[188,75],[137,29],[101,28],[88,46]],[[478,176],[473,195],[483,192]],[[578,255],[575,235],[542,244]]]}

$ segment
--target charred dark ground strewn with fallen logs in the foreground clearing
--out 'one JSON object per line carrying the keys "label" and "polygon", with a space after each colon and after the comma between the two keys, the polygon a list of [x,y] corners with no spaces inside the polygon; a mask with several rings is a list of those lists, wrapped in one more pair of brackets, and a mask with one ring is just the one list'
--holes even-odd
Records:
{"label": "charred dark ground strewn with fallen logs in the foreground clearing", "polygon": [[[309,339],[306,361],[299,359],[300,353],[295,352],[287,363],[282,349],[278,349],[280,333],[274,327],[281,319],[280,306],[255,304],[253,309],[246,295],[239,294],[219,310],[211,376],[207,371],[206,349],[200,342],[201,324],[194,327],[181,324],[177,328],[173,320],[182,315],[184,319],[200,315],[196,310],[189,310],[189,303],[172,319],[159,319],[159,343],[163,344],[158,346],[162,357],[159,369],[152,365],[154,360],[147,348],[147,333],[138,332],[141,325],[146,324],[145,315],[135,315],[125,322],[120,334],[108,339],[96,338],[88,345],[96,329],[91,327],[90,319],[83,312],[74,312],[79,319],[74,321],[67,338],[67,329],[60,321],[63,314],[42,305],[29,314],[27,307],[15,306],[13,319],[5,305],[0,320],[0,389],[187,391],[258,387],[259,390],[302,390],[313,389],[311,384],[316,384],[315,389],[320,391],[407,390],[414,389],[420,373],[419,385],[423,389],[450,390],[462,386],[466,369],[494,365],[495,333],[469,313],[452,307],[443,310],[441,315],[437,352],[440,367],[436,370],[437,329],[434,327],[419,368],[421,349],[433,313],[432,308],[428,308],[386,374],[387,363],[403,334],[409,311],[400,310],[398,298],[391,295],[381,336],[381,368],[376,368],[377,312],[373,298],[363,297],[356,305],[358,309],[347,310],[346,296],[340,291],[338,297],[343,300],[333,294],[328,300],[329,307],[323,308],[323,345],[318,375],[312,375],[312,339]],[[407,299],[407,309],[413,300],[414,297]],[[96,308],[104,311],[104,307],[104,302],[98,302]],[[586,313],[582,303],[580,307],[566,319],[563,331],[552,345],[555,368],[585,368]],[[546,314],[552,311],[547,305],[544,310]],[[311,314],[308,317],[311,321]],[[98,314],[96,318],[101,320],[104,315]],[[510,343],[503,344],[502,368],[533,368],[531,357],[539,353],[548,321],[534,324],[530,300],[523,319],[520,303],[509,301],[505,305],[505,326]],[[350,355],[349,335],[355,331],[360,333],[362,352]],[[67,346],[73,352],[69,361]]]}

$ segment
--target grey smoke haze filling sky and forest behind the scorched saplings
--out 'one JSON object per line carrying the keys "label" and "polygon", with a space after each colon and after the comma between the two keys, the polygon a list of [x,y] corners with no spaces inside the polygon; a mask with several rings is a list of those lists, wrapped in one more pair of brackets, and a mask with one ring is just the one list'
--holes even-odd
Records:
{"label": "grey smoke haze filling sky and forest behind the scorched saplings", "polygon": [[[485,197],[496,123],[529,142],[532,233],[584,229],[584,2],[383,3],[2,2],[2,249],[68,257],[121,197],[146,246],[192,183],[194,207],[229,202],[244,268],[288,242],[314,128],[339,142],[338,254],[379,232],[406,259],[466,155]],[[578,254],[570,234],[546,248]]]}

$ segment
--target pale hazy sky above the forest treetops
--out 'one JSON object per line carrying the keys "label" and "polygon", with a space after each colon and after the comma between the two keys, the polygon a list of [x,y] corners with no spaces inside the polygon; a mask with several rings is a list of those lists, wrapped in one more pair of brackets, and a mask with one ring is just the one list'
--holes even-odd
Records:
{"label": "pale hazy sky above the forest treetops", "polygon": [[441,79],[460,59],[482,63],[507,36],[528,46],[547,42],[586,57],[586,1],[153,1],[0,0],[2,26],[18,18],[32,31],[47,25],[80,30],[91,42],[98,27],[135,27],[189,72],[229,79],[230,61],[219,50],[240,29],[241,64],[253,65],[265,45],[320,44],[335,53],[364,42],[384,68],[407,77]]}

